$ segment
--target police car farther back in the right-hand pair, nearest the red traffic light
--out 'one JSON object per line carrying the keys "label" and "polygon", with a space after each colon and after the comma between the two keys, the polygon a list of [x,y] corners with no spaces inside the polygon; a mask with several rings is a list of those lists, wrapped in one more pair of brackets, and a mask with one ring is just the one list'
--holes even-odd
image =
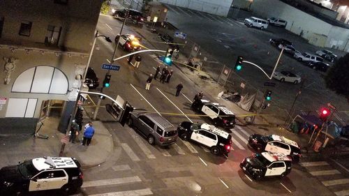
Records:
{"label": "police car farther back in the right-hand pair, nearest the red traffic light", "polygon": [[270,151],[291,156],[296,163],[302,156],[297,142],[279,135],[259,135],[255,133],[248,138],[248,144],[258,152]]}

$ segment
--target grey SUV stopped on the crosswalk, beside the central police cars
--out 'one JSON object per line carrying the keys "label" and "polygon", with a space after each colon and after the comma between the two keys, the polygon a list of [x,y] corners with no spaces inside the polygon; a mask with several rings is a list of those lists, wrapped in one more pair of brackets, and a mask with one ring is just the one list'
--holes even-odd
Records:
{"label": "grey SUV stopped on the crosswalk, beside the central police cars", "polygon": [[151,145],[169,146],[177,141],[177,129],[158,113],[146,110],[131,112],[128,126],[139,130]]}

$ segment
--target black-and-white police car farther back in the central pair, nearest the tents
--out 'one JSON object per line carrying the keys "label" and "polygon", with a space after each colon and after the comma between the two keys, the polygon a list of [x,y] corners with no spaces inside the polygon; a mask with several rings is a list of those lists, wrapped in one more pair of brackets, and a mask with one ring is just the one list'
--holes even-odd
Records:
{"label": "black-and-white police car farther back in the central pair, nearest the tents", "polygon": [[223,126],[225,128],[235,127],[235,114],[224,105],[211,103],[209,100],[202,99],[201,101],[194,102],[191,107],[193,110],[203,112],[209,116],[215,126]]}

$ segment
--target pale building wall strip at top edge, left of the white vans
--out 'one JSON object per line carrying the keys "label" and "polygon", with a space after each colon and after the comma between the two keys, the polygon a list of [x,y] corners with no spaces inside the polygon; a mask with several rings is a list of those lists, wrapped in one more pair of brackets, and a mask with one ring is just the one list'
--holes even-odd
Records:
{"label": "pale building wall strip at top edge, left of the white vans", "polygon": [[214,15],[227,16],[232,5],[232,0],[158,0],[166,3],[192,10],[198,10]]}

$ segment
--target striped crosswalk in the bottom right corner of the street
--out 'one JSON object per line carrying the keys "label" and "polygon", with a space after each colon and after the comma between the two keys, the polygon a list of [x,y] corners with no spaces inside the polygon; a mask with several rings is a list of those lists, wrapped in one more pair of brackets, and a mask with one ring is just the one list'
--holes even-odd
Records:
{"label": "striped crosswalk in the bottom right corner of the street", "polygon": [[334,195],[349,195],[349,179],[329,165],[327,161],[302,162],[299,165],[305,167],[309,174],[318,178]]}

